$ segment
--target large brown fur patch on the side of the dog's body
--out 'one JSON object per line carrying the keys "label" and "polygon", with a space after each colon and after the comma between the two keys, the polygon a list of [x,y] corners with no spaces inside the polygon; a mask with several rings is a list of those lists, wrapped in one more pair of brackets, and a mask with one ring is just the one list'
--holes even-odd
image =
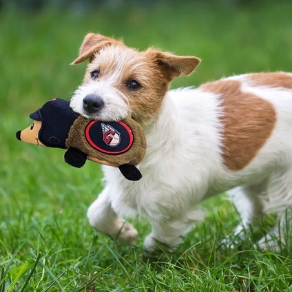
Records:
{"label": "large brown fur patch on the side of the dog's body", "polygon": [[273,105],[254,94],[242,92],[239,81],[206,83],[200,89],[222,94],[222,157],[229,169],[243,169],[271,136],[276,121]]}

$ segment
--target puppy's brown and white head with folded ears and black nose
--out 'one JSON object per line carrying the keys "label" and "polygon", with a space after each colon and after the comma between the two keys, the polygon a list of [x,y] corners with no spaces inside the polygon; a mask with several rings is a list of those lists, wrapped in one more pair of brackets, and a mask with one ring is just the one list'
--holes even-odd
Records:
{"label": "puppy's brown and white head with folded ears and black nose", "polygon": [[147,123],[158,114],[169,83],[200,63],[194,56],[175,56],[149,48],[138,52],[101,34],[87,34],[72,64],[89,59],[83,84],[74,93],[75,112],[101,121],[130,115]]}

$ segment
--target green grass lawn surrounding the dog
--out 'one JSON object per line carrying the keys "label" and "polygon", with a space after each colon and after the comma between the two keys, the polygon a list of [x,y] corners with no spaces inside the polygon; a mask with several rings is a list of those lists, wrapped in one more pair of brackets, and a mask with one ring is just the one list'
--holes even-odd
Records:
{"label": "green grass lawn surrounding the dog", "polygon": [[87,14],[0,11],[0,292],[292,290],[289,234],[280,253],[262,253],[251,240],[240,251],[220,244],[234,239],[239,222],[224,195],[202,204],[206,219],[176,252],[147,259],[142,244],[151,227],[145,220],[132,220],[139,231],[135,247],[117,244],[87,222],[87,207],[103,188],[98,165],[74,169],[61,149],[14,136],[30,124],[31,112],[51,98],[69,99],[82,81],[85,64],[68,64],[87,32],[123,36],[142,50],[156,45],[200,57],[198,70],[173,87],[245,72],[291,72],[291,2],[229,2],[172,1]]}

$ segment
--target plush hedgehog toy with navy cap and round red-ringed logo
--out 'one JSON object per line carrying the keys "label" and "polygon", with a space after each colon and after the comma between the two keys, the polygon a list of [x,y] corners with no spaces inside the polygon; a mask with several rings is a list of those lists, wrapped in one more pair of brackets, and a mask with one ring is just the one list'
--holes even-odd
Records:
{"label": "plush hedgehog toy with navy cap and round red-ringed logo", "polygon": [[34,123],[17,132],[24,142],[67,149],[65,161],[83,167],[86,159],[118,167],[128,180],[142,175],[135,167],[145,155],[142,127],[127,116],[124,121],[102,122],[79,116],[70,103],[54,98],[30,114]]}

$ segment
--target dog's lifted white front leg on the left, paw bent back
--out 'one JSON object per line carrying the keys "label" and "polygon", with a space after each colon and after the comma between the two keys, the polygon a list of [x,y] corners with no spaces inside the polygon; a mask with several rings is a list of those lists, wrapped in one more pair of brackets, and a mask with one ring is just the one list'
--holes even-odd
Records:
{"label": "dog's lifted white front leg on the left, paw bent back", "polygon": [[119,216],[112,209],[108,196],[109,187],[105,187],[98,198],[92,203],[87,211],[90,225],[97,231],[105,233],[116,240],[128,244],[134,244],[137,239],[137,231],[132,225]]}

